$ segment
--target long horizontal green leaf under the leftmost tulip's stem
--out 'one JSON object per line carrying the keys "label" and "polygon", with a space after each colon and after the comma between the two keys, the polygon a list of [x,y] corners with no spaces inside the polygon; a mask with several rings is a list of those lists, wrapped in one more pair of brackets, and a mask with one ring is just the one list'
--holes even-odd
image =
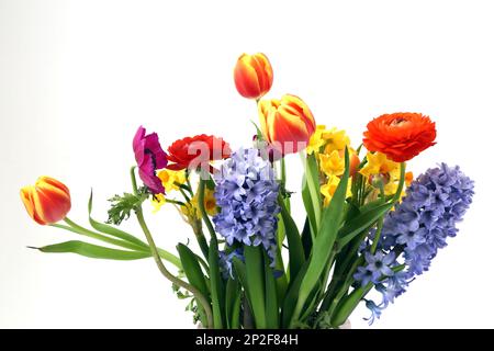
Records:
{"label": "long horizontal green leaf under the leftmost tulip's stem", "polygon": [[42,252],[47,253],[77,253],[91,259],[103,259],[103,260],[127,261],[127,260],[139,260],[150,257],[149,252],[110,249],[79,240],[65,241],[33,249],[37,249]]}

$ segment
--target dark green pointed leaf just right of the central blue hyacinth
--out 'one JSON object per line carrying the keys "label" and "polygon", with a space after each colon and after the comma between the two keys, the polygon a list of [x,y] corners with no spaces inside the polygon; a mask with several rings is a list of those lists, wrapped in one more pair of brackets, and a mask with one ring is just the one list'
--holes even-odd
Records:
{"label": "dark green pointed leaf just right of the central blue hyacinth", "polygon": [[302,246],[302,239],[299,234],[299,228],[292,216],[287,211],[283,199],[279,197],[278,203],[281,207],[281,218],[283,219],[283,226],[287,234],[287,240],[289,246],[289,267],[290,276],[296,276],[300,268],[305,262],[304,248]]}

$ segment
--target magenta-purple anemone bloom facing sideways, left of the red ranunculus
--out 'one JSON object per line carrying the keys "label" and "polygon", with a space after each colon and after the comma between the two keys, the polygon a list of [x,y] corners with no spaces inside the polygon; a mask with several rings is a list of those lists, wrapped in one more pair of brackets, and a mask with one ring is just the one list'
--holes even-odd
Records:
{"label": "magenta-purple anemone bloom facing sideways, left of the red ranunculus", "polygon": [[167,154],[159,145],[158,135],[156,133],[146,135],[146,129],[141,126],[134,136],[133,147],[144,185],[149,188],[153,194],[165,193],[165,188],[156,176],[156,170],[165,168],[168,160]]}

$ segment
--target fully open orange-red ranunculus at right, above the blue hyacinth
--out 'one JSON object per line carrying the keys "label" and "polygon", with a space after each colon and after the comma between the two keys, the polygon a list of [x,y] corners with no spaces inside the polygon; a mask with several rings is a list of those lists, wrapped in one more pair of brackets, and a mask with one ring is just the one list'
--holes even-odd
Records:
{"label": "fully open orange-red ranunculus at right, above the blue hyacinth", "polygon": [[436,144],[436,123],[422,113],[383,114],[369,122],[367,128],[366,148],[383,152],[395,162],[407,161]]}

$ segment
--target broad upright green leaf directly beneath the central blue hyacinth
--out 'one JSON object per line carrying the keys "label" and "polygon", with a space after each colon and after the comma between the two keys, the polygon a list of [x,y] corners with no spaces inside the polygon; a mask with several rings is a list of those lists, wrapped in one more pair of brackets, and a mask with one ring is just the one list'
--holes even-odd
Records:
{"label": "broad upright green leaf directly beneath the central blue hyacinth", "polygon": [[257,329],[266,329],[265,265],[261,247],[244,246],[247,288]]}

